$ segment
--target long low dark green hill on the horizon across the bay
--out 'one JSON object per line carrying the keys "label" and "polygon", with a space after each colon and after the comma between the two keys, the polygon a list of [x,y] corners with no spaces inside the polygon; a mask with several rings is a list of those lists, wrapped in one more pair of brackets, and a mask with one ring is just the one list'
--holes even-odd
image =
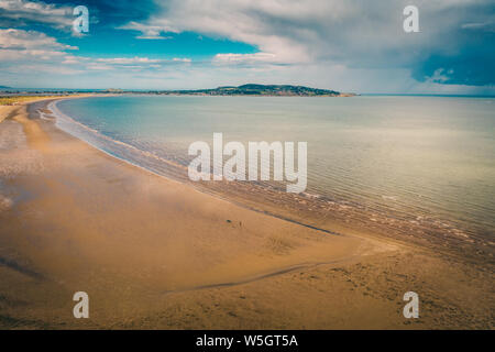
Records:
{"label": "long low dark green hill on the horizon across the bay", "polygon": [[341,92],[329,89],[288,85],[242,85],[213,89],[173,90],[170,94],[201,96],[271,96],[271,97],[339,97]]}

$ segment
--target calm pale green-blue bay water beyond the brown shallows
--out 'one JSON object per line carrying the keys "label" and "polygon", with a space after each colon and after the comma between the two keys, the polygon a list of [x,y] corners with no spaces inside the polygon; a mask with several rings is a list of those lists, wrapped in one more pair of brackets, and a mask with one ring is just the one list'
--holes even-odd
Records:
{"label": "calm pale green-blue bay water beyond the brown shallows", "polygon": [[[495,99],[450,97],[174,97],[65,100],[58,124],[98,147],[167,174],[188,146],[304,141],[307,193],[371,212],[495,230]],[[123,142],[114,143],[114,141]]]}

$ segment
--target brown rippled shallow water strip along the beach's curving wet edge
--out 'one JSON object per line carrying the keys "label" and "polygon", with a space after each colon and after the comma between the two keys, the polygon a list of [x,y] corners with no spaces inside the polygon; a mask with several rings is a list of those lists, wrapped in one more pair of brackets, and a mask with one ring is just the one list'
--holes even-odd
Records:
{"label": "brown rippled shallow water strip along the beach's curving wet edge", "polygon": [[[119,95],[108,95],[116,97]],[[99,98],[103,96],[92,96],[91,98]],[[81,97],[85,98],[85,97]],[[87,141],[85,136],[73,134],[68,130],[62,129],[65,133],[81,140],[84,143],[100,152],[117,158],[145,172],[150,172],[160,177],[178,182],[183,185],[188,185],[191,188],[216,198],[223,199],[233,205],[243,207],[249,210],[272,216],[282,220],[294,222],[304,227],[320,230],[324,233],[340,235],[345,232],[363,233],[365,237],[372,234],[374,238],[381,240],[392,240],[404,245],[419,245],[424,249],[435,249],[444,255],[453,255],[471,261],[472,263],[495,264],[493,255],[495,249],[490,238],[482,235],[476,231],[465,232],[468,229],[460,228],[459,224],[452,223],[449,220],[421,216],[421,221],[418,221],[415,215],[409,218],[402,219],[403,213],[387,212],[378,216],[377,213],[367,213],[365,206],[349,200],[334,200],[322,195],[311,195],[302,193],[299,195],[287,194],[280,191],[272,185],[257,185],[242,182],[216,182],[216,183],[194,183],[190,182],[186,175],[187,168],[173,162],[170,160],[153,155],[153,158],[160,160],[169,165],[169,169],[156,170],[153,167],[141,165],[145,157],[145,151],[139,150],[135,146],[129,145],[121,141],[112,140],[107,135],[102,135],[97,131],[65,116],[56,107],[62,99],[54,99],[45,105],[45,108],[55,108],[54,114],[57,119],[62,116],[70,120],[70,123],[82,127],[91,133],[105,139],[105,142],[124,145],[127,148],[135,150],[140,155],[136,157],[140,162],[134,162],[130,157],[118,155],[119,151],[108,152],[103,147],[98,146],[97,143]],[[64,99],[65,100],[65,99]],[[59,128],[61,129],[61,128]],[[108,147],[108,145],[106,145]],[[312,208],[312,209],[311,209]],[[331,215],[330,215],[331,213]],[[336,216],[337,215],[337,216]],[[352,222],[352,223],[351,223]],[[359,223],[359,226],[356,226]],[[486,231],[485,231],[486,232]],[[492,243],[492,244],[491,244]],[[482,258],[480,258],[482,256]]]}

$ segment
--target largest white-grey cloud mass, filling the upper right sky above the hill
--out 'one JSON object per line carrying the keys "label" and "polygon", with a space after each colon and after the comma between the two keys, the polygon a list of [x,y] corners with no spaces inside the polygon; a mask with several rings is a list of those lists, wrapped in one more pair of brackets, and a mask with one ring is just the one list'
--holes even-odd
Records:
{"label": "largest white-grey cloud mass, filling the upper right sky above the hill", "polygon": [[[140,31],[143,36],[196,32],[248,43],[260,51],[255,54],[219,53],[212,63],[220,67],[251,66],[261,72],[263,67],[275,69],[274,66],[292,65],[305,73],[306,67],[317,65],[323,76],[344,67],[349,79],[354,79],[355,89],[365,86],[363,69],[382,74],[383,69],[403,69],[410,76],[431,56],[455,57],[465,45],[458,35],[462,23],[472,20],[469,23],[483,25],[468,24],[464,29],[486,30],[493,15],[480,11],[482,7],[490,7],[490,0],[418,0],[415,4],[419,8],[420,33],[410,34],[403,30],[403,10],[410,4],[409,0],[169,0],[156,3],[162,6],[161,10],[146,21],[132,22],[123,29]],[[284,78],[282,72],[289,68],[276,70]],[[404,84],[405,79],[399,81]],[[367,85],[376,86],[376,81]]]}

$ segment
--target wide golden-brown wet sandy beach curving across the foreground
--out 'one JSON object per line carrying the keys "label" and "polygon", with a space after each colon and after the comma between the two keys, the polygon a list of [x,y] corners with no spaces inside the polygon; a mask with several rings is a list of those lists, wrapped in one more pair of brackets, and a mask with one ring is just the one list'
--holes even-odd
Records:
{"label": "wide golden-brown wet sandy beach curving across the foreground", "polygon": [[492,264],[200,193],[58,130],[47,102],[0,107],[0,328],[493,329]]}

